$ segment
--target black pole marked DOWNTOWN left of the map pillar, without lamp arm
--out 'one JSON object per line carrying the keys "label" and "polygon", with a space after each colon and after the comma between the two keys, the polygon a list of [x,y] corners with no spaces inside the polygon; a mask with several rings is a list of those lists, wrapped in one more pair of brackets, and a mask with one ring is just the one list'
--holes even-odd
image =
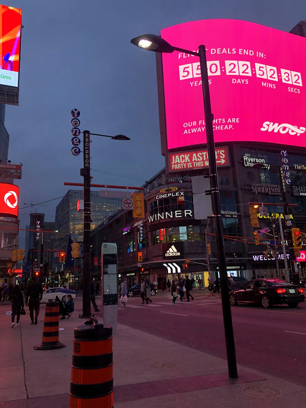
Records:
{"label": "black pole marked DOWNTOWN left of the map pillar, without lamp arm", "polygon": [[84,177],[84,216],[83,216],[83,317],[91,317],[90,311],[90,132],[83,132],[83,160],[84,168],[81,169],[81,176]]}

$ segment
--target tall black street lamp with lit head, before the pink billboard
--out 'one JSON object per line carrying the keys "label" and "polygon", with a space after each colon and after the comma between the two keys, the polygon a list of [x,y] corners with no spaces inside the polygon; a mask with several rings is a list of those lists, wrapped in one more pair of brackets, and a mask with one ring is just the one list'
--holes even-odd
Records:
{"label": "tall black street lamp with lit head, before the pink billboard", "polygon": [[211,113],[211,98],[209,94],[207,61],[205,45],[199,46],[199,52],[188,51],[182,48],[173,47],[169,42],[159,37],[158,35],[145,34],[133,38],[131,43],[137,47],[154,51],[158,53],[172,53],[173,51],[180,51],[189,55],[194,55],[200,58],[200,71],[202,79],[202,91],[204,100],[204,117],[205,129],[207,138],[207,150],[209,158],[209,178],[211,182],[211,201],[213,208],[213,217],[215,221],[215,237],[217,245],[217,262],[220,272],[221,283],[221,299],[222,299],[222,313],[224,322],[224,332],[226,340],[226,354],[228,364],[228,375],[230,378],[237,378],[237,364],[235,341],[233,334],[233,323],[231,314],[231,304],[229,301],[228,278],[226,268],[226,256],[223,239],[223,225],[222,214],[220,207],[220,195],[217,176],[217,162],[215,156],[215,140],[213,136],[213,115]]}

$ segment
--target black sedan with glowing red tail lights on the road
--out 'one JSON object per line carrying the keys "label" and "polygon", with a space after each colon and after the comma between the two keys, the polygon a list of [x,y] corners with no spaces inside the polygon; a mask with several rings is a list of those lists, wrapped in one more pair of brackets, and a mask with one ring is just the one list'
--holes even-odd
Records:
{"label": "black sedan with glowing red tail lights on the road", "polygon": [[287,304],[297,307],[305,301],[303,289],[282,279],[254,279],[230,293],[232,306],[238,303],[255,303],[264,308]]}

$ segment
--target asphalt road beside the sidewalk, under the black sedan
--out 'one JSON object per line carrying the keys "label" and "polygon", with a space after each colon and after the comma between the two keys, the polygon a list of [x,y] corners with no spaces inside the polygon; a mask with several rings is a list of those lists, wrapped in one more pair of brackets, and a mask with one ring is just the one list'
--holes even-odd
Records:
{"label": "asphalt road beside the sidewalk, under the black sedan", "polygon": [[[118,322],[226,359],[221,298],[204,295],[204,290],[192,293],[193,302],[180,304],[177,299],[175,305],[167,293],[157,293],[151,305],[141,305],[140,297],[129,298],[125,309],[118,307]],[[296,309],[231,309],[237,364],[305,386],[306,302]]]}

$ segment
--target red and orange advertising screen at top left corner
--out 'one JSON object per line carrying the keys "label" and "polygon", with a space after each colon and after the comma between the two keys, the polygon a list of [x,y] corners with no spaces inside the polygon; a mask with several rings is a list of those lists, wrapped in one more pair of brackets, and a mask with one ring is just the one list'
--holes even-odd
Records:
{"label": "red and orange advertising screen at top left corner", "polygon": [[0,103],[18,104],[20,30],[21,10],[0,5]]}

